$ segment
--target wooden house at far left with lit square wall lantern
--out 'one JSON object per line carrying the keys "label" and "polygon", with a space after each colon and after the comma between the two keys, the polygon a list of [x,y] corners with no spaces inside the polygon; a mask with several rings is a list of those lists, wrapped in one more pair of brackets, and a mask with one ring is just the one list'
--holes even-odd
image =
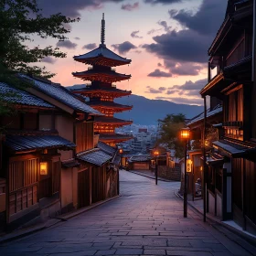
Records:
{"label": "wooden house at far left with lit square wall lantern", "polygon": [[58,150],[72,150],[75,144],[54,129],[40,129],[41,115],[57,111],[52,104],[5,83],[0,83],[0,91],[6,95],[1,101],[12,103],[16,110],[15,115],[0,118],[5,134],[0,165],[1,224],[13,229],[43,211],[60,211]]}

